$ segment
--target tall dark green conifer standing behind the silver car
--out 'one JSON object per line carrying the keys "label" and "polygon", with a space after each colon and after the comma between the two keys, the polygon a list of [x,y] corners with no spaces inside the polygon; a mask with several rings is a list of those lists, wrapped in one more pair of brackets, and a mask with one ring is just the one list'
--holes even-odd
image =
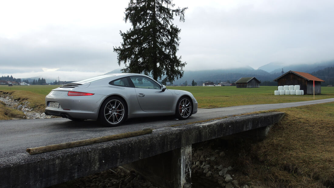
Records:
{"label": "tall dark green conifer standing behind the silver car", "polygon": [[172,0],[130,0],[124,20],[133,27],[120,32],[123,42],[114,47],[118,64],[125,64],[123,72],[151,74],[164,84],[183,76],[186,62],[176,56],[181,30],[172,21],[179,16],[184,22],[187,8],[174,6]]}

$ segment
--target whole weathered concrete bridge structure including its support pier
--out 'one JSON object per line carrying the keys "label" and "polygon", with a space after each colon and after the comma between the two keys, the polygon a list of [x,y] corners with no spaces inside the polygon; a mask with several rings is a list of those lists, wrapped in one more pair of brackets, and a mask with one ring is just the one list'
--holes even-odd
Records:
{"label": "whole weathered concrete bridge structure including its support pier", "polygon": [[160,187],[191,187],[192,144],[241,132],[264,137],[283,116],[245,115],[61,151],[22,153],[0,161],[0,187],[47,187],[126,164]]}

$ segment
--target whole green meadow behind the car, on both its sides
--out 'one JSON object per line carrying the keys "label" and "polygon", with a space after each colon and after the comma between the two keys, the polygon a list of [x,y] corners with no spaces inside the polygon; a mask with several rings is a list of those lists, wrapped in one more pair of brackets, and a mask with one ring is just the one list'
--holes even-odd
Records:
{"label": "whole green meadow behind the car, on both its sides", "polygon": [[[44,111],[44,98],[59,85],[0,85],[0,91],[10,92],[16,99],[29,99],[32,108]],[[168,89],[179,89],[191,92],[198,102],[199,108],[218,108],[239,105],[291,103],[313,100],[312,95],[275,96],[276,86],[260,86],[260,88],[236,88],[234,86],[203,87],[203,86],[168,86]],[[14,91],[14,92],[13,92]],[[315,99],[334,98],[334,87],[321,87],[322,94]]]}

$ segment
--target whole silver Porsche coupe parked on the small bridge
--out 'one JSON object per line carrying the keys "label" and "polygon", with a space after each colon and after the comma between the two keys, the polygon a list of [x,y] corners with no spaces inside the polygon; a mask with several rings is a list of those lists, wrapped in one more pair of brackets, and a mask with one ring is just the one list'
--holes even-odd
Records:
{"label": "whole silver Porsche coupe parked on the small bridge", "polygon": [[108,127],[127,118],[175,115],[188,119],[197,113],[194,96],[166,89],[151,77],[135,73],[104,74],[68,83],[45,97],[45,114],[70,120],[99,120]]}

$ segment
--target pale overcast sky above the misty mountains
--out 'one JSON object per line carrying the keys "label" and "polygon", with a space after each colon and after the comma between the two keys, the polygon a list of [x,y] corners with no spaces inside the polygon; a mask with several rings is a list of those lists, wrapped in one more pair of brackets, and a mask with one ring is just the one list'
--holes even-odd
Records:
{"label": "pale overcast sky above the misty mountains", "polygon": [[[78,80],[120,68],[113,46],[129,1],[0,3],[0,76]],[[333,0],[174,0],[188,7],[178,56],[184,70],[334,59]]]}

